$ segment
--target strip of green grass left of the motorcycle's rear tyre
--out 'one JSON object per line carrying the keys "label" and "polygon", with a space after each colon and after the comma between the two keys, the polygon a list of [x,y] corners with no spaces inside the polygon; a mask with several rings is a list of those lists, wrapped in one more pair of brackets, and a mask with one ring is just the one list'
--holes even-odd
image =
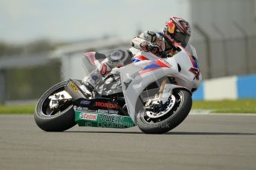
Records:
{"label": "strip of green grass left of the motorcycle's rear tyre", "polygon": [[36,105],[5,106],[0,105],[0,114],[33,114]]}

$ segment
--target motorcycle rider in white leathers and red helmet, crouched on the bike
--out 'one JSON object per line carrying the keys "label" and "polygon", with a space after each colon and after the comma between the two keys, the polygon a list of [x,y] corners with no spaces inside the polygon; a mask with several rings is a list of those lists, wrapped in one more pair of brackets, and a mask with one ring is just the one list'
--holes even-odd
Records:
{"label": "motorcycle rider in white leathers and red helmet, crouched on the bike", "polygon": [[[129,50],[115,50],[108,56],[96,52],[96,58],[105,58],[96,64],[97,69],[84,78],[83,82],[89,87],[89,91],[93,91],[96,82],[102,76],[107,75],[114,67],[122,67],[132,62],[134,51],[143,50],[152,52],[154,55],[163,57],[164,55],[174,55],[178,48],[174,43],[180,43],[186,47],[191,35],[191,27],[188,21],[183,18],[171,17],[165,23],[162,32],[155,33],[146,31],[131,40],[131,48]],[[135,51],[136,51],[135,50]]]}

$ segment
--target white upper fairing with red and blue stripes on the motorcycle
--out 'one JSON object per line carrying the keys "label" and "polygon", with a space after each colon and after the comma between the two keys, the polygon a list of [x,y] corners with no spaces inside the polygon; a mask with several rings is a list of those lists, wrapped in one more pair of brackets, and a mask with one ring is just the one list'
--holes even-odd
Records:
{"label": "white upper fairing with red and blue stripes on the motorcycle", "polygon": [[[122,81],[122,90],[125,96],[125,103],[127,104],[128,113],[136,123],[136,105],[137,100],[143,89],[154,81],[164,78],[166,76],[174,77],[177,84],[166,84],[165,92],[172,92],[175,88],[185,88],[190,92],[198,88],[202,79],[197,61],[194,61],[188,50],[180,47],[181,51],[171,58],[158,58],[149,52],[138,52],[134,58],[143,56],[147,60],[142,60],[136,63],[128,64],[125,67],[118,69]],[[190,47],[192,55],[197,58],[194,47]],[[160,61],[164,67],[157,69],[148,69],[152,62]],[[194,89],[194,90],[193,90]],[[165,95],[164,95],[165,96]]]}

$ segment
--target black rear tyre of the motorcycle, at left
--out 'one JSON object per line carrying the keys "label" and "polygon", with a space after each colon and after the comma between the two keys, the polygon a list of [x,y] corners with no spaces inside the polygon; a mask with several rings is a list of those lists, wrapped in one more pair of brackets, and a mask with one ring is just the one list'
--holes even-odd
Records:
{"label": "black rear tyre of the motorcycle, at left", "polygon": [[50,87],[36,104],[34,118],[40,129],[47,132],[62,132],[76,125],[72,103],[65,103],[58,109],[50,109],[49,106],[49,96],[65,90],[67,82],[63,81]]}

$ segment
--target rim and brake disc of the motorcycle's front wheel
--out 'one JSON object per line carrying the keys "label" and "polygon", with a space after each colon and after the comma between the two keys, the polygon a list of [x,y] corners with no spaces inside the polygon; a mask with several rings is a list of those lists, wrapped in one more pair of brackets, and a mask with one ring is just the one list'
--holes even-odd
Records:
{"label": "rim and brake disc of the motorcycle's front wheel", "polygon": [[140,116],[142,122],[149,124],[163,123],[167,118],[174,115],[183,103],[183,95],[179,92],[177,94],[171,95],[168,101],[165,103],[165,108],[162,113],[152,112],[149,114],[145,109],[142,111]]}

